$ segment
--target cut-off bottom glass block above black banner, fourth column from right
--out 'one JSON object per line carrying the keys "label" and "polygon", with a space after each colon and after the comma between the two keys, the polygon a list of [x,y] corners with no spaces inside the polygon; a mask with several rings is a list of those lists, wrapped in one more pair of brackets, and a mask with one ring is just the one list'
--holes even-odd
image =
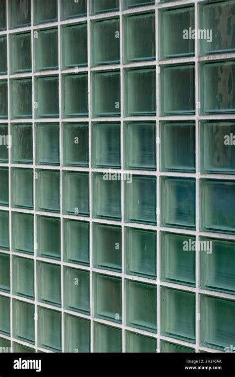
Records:
{"label": "cut-off bottom glass block above black banner, fourth column from right", "polygon": [[94,324],[94,352],[95,353],[120,353],[121,329],[108,326],[103,323],[93,322]]}

